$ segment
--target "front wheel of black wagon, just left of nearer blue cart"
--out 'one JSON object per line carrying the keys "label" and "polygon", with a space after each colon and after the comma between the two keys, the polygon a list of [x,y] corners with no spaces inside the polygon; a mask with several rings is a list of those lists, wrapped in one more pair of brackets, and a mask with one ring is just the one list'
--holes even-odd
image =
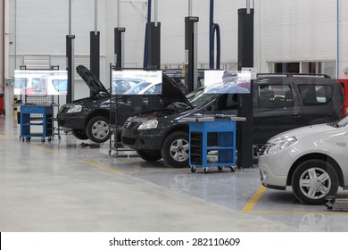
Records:
{"label": "front wheel of black wagon, just left of nearer blue cart", "polygon": [[186,132],[174,132],[164,140],[162,157],[164,164],[174,168],[188,166],[188,134]]}

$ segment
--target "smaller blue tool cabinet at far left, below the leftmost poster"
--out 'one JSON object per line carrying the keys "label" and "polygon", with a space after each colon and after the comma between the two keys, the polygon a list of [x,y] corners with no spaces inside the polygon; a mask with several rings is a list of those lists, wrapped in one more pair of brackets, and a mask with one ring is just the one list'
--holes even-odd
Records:
{"label": "smaller blue tool cabinet at far left, below the leftmost poster", "polygon": [[[54,131],[54,109],[52,105],[23,105],[21,106],[21,136],[22,141],[31,137],[41,137],[41,141],[51,141]],[[34,132],[34,127],[39,128]]]}

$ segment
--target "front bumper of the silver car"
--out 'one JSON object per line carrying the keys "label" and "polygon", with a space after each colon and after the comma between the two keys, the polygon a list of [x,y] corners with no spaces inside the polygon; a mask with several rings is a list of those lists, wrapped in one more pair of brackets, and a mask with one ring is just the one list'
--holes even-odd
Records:
{"label": "front bumper of the silver car", "polygon": [[293,160],[285,150],[259,157],[261,183],[265,187],[285,189],[288,172]]}

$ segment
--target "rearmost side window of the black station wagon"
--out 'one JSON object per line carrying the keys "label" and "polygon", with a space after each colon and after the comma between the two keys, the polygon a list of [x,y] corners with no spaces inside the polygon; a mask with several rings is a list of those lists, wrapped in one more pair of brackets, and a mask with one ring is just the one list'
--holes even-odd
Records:
{"label": "rearmost side window of the black station wagon", "polygon": [[320,84],[301,84],[298,85],[298,89],[305,106],[328,104],[334,91],[334,87]]}

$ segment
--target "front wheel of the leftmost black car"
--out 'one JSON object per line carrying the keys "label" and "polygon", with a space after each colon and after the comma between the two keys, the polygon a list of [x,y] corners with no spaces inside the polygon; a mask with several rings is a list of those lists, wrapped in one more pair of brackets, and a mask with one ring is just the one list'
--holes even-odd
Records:
{"label": "front wheel of the leftmost black car", "polygon": [[95,143],[104,143],[110,137],[109,120],[104,116],[96,116],[87,123],[87,137]]}

